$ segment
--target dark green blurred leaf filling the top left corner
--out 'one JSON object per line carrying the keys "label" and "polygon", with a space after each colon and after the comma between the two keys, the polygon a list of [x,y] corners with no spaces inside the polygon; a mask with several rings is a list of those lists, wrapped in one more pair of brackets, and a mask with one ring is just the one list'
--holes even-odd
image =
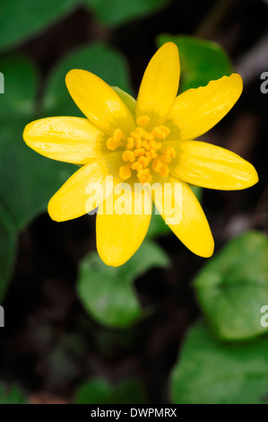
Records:
{"label": "dark green blurred leaf filling the top left corner", "polygon": [[0,50],[11,48],[70,13],[79,0],[1,0]]}

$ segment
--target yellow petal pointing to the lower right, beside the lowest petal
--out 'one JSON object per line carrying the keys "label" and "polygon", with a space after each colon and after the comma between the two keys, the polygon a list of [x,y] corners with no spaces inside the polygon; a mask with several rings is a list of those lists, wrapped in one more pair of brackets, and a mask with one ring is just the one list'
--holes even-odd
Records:
{"label": "yellow petal pointing to the lower right, beside the lowest petal", "polygon": [[[212,232],[192,189],[186,183],[171,176],[165,178],[165,184],[166,190],[152,191],[153,201],[163,219],[190,251],[203,258],[211,257],[214,251]],[[177,189],[177,194],[175,189]],[[161,191],[164,192],[162,196],[160,195]],[[170,213],[167,212],[169,204],[165,202],[169,197],[169,192],[173,198],[172,207],[178,220],[178,223],[175,221],[175,224],[172,221],[170,224]]]}

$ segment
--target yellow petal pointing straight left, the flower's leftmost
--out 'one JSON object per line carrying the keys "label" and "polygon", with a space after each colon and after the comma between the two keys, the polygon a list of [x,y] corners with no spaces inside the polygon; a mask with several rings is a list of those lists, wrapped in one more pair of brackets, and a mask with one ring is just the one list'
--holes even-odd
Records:
{"label": "yellow petal pointing straight left, the flower's leftmost", "polygon": [[107,154],[107,138],[88,119],[70,117],[35,120],[23,132],[24,141],[37,153],[76,164]]}

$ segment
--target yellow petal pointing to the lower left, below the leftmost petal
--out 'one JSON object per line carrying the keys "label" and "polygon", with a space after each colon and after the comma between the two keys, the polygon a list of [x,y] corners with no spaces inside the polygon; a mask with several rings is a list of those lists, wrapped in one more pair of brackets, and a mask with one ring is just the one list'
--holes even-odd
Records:
{"label": "yellow petal pointing to the lower left, below the leftmost petal", "polygon": [[[120,163],[121,154],[112,153],[91,159],[90,163],[75,171],[48,203],[48,214],[52,220],[71,220],[99,207],[111,193],[107,176],[117,174]],[[117,179],[114,177],[114,180]]]}

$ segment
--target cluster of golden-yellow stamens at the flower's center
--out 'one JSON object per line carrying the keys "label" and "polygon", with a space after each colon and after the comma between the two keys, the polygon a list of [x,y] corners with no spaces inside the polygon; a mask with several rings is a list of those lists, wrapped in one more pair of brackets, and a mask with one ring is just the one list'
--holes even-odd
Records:
{"label": "cluster of golden-yellow stamens at the flower's center", "polygon": [[169,127],[157,126],[148,132],[145,127],[149,121],[147,116],[142,116],[137,119],[137,127],[130,136],[116,129],[114,136],[108,138],[107,147],[110,151],[124,147],[122,160],[125,164],[119,169],[122,180],[129,179],[132,171],[136,171],[141,183],[151,182],[151,171],[159,173],[161,177],[169,176],[168,164],[175,157],[175,150],[171,146],[163,148],[160,142],[169,135]]}

